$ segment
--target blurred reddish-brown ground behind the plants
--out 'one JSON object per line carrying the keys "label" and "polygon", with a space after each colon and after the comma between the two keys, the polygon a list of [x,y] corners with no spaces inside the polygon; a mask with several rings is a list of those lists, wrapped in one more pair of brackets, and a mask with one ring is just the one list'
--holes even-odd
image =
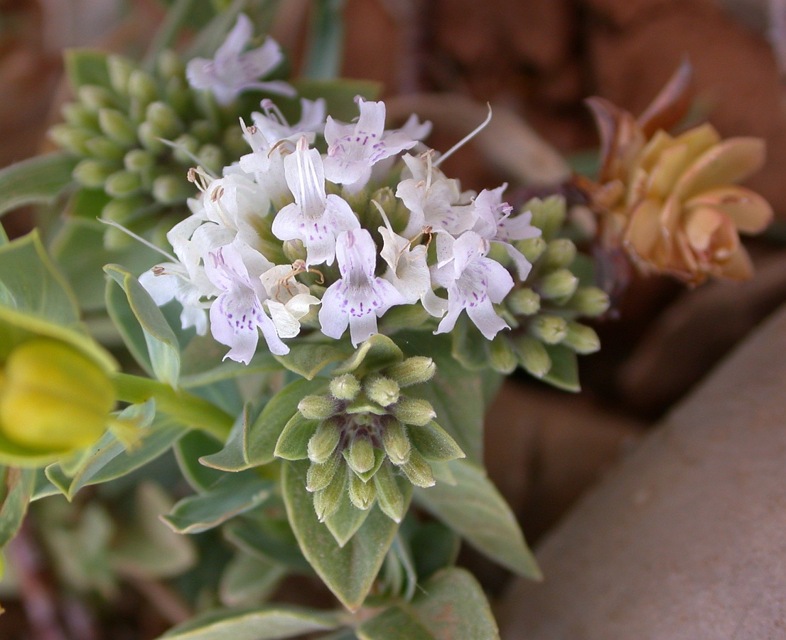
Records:
{"label": "blurred reddish-brown ground behind the plants", "polygon": [[[272,35],[298,68],[313,3],[275,4]],[[46,128],[68,98],[65,47],[139,56],[165,5],[0,0],[0,167],[50,148]],[[537,544],[586,487],[786,300],[786,0],[346,0],[343,17],[343,75],[382,83],[383,97],[399,101],[391,112],[421,105],[435,125],[428,141],[435,149],[448,149],[475,127],[490,102],[495,112],[515,116],[511,139],[524,127],[538,135],[532,140],[545,155],[556,150],[591,175],[597,133],[584,99],[600,95],[637,114],[685,57],[695,70],[696,119],[711,120],[724,137],[766,139],[766,167],[747,186],[771,202],[776,222],[747,244],[755,278],[690,291],[667,278],[636,279],[615,317],[596,326],[604,347],[581,359],[580,394],[522,375],[490,410],[490,475]],[[459,106],[446,109],[424,94],[448,94]],[[530,150],[523,156],[537,164]],[[445,169],[465,189],[505,181],[531,189],[516,184],[515,164],[509,149],[469,145]],[[20,234],[31,220],[20,211],[4,223],[9,234]],[[464,561],[491,594],[504,587],[508,576],[500,568],[469,552]],[[101,614],[115,616],[114,627],[96,626],[84,609],[83,638],[145,638],[166,628],[166,616],[139,604],[156,595],[131,591],[114,612]],[[3,605],[9,613],[0,620],[2,638],[39,637],[19,606]]]}

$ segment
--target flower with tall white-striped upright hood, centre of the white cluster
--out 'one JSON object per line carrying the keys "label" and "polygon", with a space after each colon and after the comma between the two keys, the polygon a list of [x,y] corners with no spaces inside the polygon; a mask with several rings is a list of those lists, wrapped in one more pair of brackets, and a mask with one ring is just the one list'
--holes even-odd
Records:
{"label": "flower with tall white-striped upright hood, centre of the white cluster", "polygon": [[284,160],[287,185],[295,202],[278,211],[273,234],[279,240],[300,240],[306,247],[306,266],[332,264],[336,256],[336,236],[360,229],[358,218],[346,200],[325,194],[325,170],[317,149],[309,149],[305,136],[295,153]]}

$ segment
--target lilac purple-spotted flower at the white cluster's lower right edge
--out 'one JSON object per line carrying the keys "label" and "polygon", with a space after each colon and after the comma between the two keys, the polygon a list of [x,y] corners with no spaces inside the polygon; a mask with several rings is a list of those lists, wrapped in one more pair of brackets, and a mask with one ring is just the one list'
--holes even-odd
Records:
{"label": "lilac purple-spotted flower at the white cluster's lower right edge", "polygon": [[474,231],[467,231],[457,240],[441,234],[443,255],[453,257],[432,267],[434,281],[447,289],[447,314],[434,333],[447,333],[454,328],[461,311],[475,323],[480,333],[492,340],[501,329],[509,326],[496,311],[513,288],[508,270],[487,258],[488,241]]}

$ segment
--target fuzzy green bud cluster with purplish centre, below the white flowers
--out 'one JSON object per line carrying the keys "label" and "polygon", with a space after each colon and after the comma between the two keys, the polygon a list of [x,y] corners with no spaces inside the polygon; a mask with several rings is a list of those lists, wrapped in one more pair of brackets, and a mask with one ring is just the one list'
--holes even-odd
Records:
{"label": "fuzzy green bud cluster with purplish centre, below the white flowers", "polygon": [[314,493],[319,520],[335,513],[348,496],[355,508],[369,509],[376,502],[400,522],[406,503],[396,476],[431,487],[430,463],[464,457],[434,421],[432,405],[403,391],[434,373],[432,359],[416,356],[382,370],[341,373],[327,393],[300,401],[281,433],[277,454],[286,451],[282,457],[310,461],[306,486]]}

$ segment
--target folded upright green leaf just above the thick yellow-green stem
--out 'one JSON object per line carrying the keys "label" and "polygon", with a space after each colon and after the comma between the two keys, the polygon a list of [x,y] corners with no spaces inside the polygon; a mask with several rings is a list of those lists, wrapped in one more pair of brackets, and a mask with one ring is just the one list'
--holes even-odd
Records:
{"label": "folded upright green leaf just above the thick yellow-green stem", "polygon": [[[160,308],[139,284],[137,278],[127,270],[113,264],[108,264],[104,270],[126,292],[130,310],[139,322],[145,337],[152,372],[160,381],[176,387],[180,375],[180,345],[167,319],[163,317]],[[112,302],[112,307],[116,307],[117,300]],[[109,301],[107,306],[110,307]],[[111,308],[110,314],[112,314]],[[112,319],[115,319],[114,315]],[[138,348],[138,345],[135,346]],[[131,348],[130,344],[129,348]]]}

